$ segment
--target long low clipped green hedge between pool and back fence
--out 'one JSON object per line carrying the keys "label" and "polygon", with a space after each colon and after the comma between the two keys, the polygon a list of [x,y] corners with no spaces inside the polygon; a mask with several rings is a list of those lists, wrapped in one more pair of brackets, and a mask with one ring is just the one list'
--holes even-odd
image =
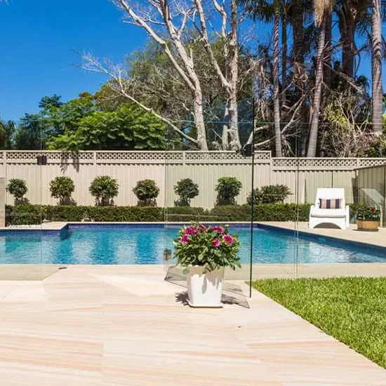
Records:
{"label": "long low clipped green hedge between pool and back fence", "polygon": [[[310,204],[259,204],[254,206],[255,221],[307,221]],[[36,225],[49,221],[97,222],[176,222],[250,221],[251,206],[215,206],[211,210],[192,207],[152,206],[49,206],[6,207],[7,225]]]}

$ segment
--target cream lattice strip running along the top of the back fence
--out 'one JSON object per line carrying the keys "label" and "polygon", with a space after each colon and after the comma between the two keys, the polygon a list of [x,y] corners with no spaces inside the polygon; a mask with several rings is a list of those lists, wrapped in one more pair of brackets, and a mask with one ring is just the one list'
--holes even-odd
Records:
{"label": "cream lattice strip running along the top of the back fence", "polygon": [[[0,152],[4,164],[36,164],[38,155],[48,164],[251,164],[240,152]],[[272,158],[271,152],[255,152],[255,164],[272,164],[273,171],[347,171],[386,165],[386,158]]]}

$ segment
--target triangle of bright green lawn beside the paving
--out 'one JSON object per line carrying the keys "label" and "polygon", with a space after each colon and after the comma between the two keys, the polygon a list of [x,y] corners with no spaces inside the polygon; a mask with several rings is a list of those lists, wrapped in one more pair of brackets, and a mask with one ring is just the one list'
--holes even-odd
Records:
{"label": "triangle of bright green lawn beside the paving", "polygon": [[386,368],[386,278],[268,279],[253,288]]}

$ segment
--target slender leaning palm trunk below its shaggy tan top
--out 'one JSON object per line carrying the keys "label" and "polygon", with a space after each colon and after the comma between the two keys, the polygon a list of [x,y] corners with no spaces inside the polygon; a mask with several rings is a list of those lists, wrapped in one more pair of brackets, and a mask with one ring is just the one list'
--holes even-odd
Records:
{"label": "slender leaning palm trunk below its shaggy tan top", "polygon": [[319,128],[319,111],[321,105],[321,86],[323,84],[323,65],[324,65],[324,44],[326,41],[326,13],[319,27],[319,44],[317,53],[317,71],[315,74],[315,91],[312,103],[312,121],[310,127],[310,138],[308,140],[307,157],[316,157],[318,128]]}

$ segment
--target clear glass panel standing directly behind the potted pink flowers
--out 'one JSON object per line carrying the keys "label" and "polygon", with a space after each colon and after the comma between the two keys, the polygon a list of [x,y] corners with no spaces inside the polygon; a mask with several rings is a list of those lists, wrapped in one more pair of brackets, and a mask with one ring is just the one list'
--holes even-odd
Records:
{"label": "clear glass panel standing directly behind the potted pink flowers", "polygon": [[[225,269],[223,301],[245,304],[248,291],[243,290],[245,281],[251,279],[251,200],[253,164],[253,103],[239,102],[243,111],[237,130],[229,121],[206,121],[206,145],[200,148],[182,140],[176,144],[175,131],[168,130],[167,158],[165,166],[165,254],[167,258],[166,278],[186,286],[187,272],[176,267],[175,245],[178,230],[192,223],[192,232],[216,232],[208,248],[219,248],[222,244],[239,243],[237,256],[241,267]],[[240,110],[239,110],[240,111]],[[224,112],[219,114],[224,116]],[[177,124],[177,123],[176,123]],[[186,122],[180,123],[181,130]],[[269,162],[269,152],[265,163]],[[200,228],[201,226],[201,228]],[[198,229],[198,230],[197,230]],[[213,230],[214,229],[214,230]],[[193,235],[187,230],[185,239]],[[229,235],[228,235],[229,233]],[[178,241],[177,241],[178,242]],[[218,246],[217,246],[218,245]],[[228,245],[228,244],[227,244]],[[230,249],[229,249],[230,251]],[[229,252],[232,253],[232,252]]]}

